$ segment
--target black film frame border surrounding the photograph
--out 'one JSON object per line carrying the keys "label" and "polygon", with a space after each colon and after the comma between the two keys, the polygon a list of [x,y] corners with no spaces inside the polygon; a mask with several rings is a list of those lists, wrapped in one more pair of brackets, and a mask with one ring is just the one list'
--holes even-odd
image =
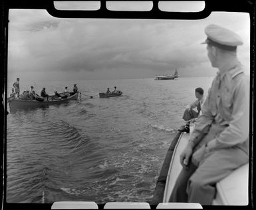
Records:
{"label": "black film frame border surrounding the photograph", "polygon": [[[67,0],[64,0],[67,1]],[[72,1],[72,0],[70,0]],[[86,0],[85,0],[86,1]],[[255,143],[253,142],[254,137],[254,119],[255,114],[255,15],[256,15],[256,0],[239,0],[231,1],[226,0],[225,3],[220,0],[209,1],[205,0],[205,8],[203,11],[196,13],[180,13],[180,12],[165,12],[158,9],[158,0],[151,0],[153,7],[151,11],[109,11],[106,9],[106,0],[89,0],[89,1],[100,1],[100,9],[96,11],[65,11],[57,10],[54,7],[53,0],[1,0],[1,51],[0,51],[0,85],[1,85],[1,110],[0,110],[0,124],[1,124],[1,174],[0,181],[2,184],[1,193],[1,207],[2,209],[51,209],[52,203],[7,203],[6,191],[7,191],[7,54],[8,54],[8,23],[9,23],[9,9],[45,9],[50,15],[59,18],[100,18],[100,19],[204,19],[214,11],[225,11],[225,12],[241,12],[249,13],[250,15],[250,29],[251,29],[251,45],[250,45],[250,153],[249,153],[249,205],[242,206],[222,206],[226,209],[254,209],[255,207],[255,177],[253,172],[255,171]],[[118,1],[118,0],[111,0]],[[127,1],[127,0],[119,0]],[[139,0],[139,1],[150,1],[150,0]],[[168,1],[168,0],[161,0]],[[169,0],[170,1],[170,0]],[[177,0],[176,0],[177,1]],[[186,0],[191,1],[191,0]],[[104,204],[98,204],[98,209],[103,209]],[[156,209],[156,205],[150,205],[151,209]],[[203,209],[215,209],[221,206],[203,206]]]}

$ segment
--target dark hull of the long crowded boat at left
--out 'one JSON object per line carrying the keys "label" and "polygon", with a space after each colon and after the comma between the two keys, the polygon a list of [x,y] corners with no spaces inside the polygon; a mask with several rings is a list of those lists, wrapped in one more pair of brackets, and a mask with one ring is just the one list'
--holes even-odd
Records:
{"label": "dark hull of the long crowded boat at left", "polygon": [[30,109],[30,108],[46,107],[51,104],[62,104],[64,102],[68,102],[69,100],[77,100],[77,98],[78,98],[78,93],[75,93],[72,96],[68,96],[67,98],[62,98],[57,100],[48,100],[43,102],[39,102],[37,100],[13,99],[13,100],[9,100],[9,106],[10,106],[10,110]]}

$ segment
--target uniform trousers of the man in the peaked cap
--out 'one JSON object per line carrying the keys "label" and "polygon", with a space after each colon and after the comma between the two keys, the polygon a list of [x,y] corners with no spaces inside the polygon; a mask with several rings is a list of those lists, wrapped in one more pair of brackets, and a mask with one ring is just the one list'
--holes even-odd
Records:
{"label": "uniform trousers of the man in the peaked cap", "polygon": [[[214,131],[209,132],[195,150],[214,136]],[[183,168],[176,180],[170,202],[211,205],[216,192],[215,184],[248,161],[248,155],[237,147],[213,150],[205,154],[198,167],[190,160],[188,169]]]}

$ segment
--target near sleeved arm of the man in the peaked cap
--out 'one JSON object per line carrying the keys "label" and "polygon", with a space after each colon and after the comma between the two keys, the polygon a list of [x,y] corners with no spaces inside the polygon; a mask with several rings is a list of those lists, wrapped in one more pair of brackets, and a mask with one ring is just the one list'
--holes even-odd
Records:
{"label": "near sleeved arm of the man in the peaked cap", "polygon": [[249,137],[249,81],[245,76],[235,87],[231,118],[229,126],[207,144],[209,150],[230,148],[245,142]]}

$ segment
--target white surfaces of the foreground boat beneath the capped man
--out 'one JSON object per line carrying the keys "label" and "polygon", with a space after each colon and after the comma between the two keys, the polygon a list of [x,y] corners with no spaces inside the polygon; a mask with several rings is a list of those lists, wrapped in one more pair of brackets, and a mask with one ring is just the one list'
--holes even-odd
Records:
{"label": "white surfaces of the foreground boat beneath the capped man", "polygon": [[[193,127],[190,127],[192,133]],[[172,160],[166,177],[166,187],[164,189],[163,203],[170,199],[176,179],[182,170],[180,164],[180,154],[188,144],[190,134],[182,133],[174,148]],[[235,169],[230,175],[216,183],[216,196],[212,205],[248,205],[248,179],[249,163]]]}

